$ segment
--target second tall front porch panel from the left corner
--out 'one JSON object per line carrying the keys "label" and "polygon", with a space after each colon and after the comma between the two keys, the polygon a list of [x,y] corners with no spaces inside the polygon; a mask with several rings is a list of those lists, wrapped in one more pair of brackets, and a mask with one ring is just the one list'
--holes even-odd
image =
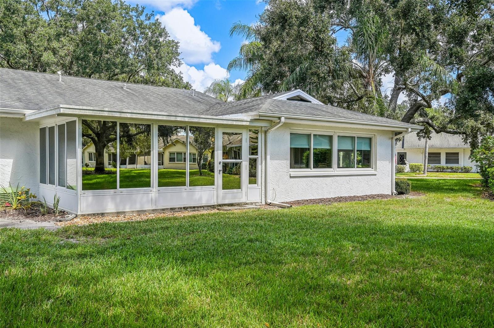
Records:
{"label": "second tall front porch panel from the left corner", "polygon": [[120,189],[151,188],[151,124],[120,123]]}

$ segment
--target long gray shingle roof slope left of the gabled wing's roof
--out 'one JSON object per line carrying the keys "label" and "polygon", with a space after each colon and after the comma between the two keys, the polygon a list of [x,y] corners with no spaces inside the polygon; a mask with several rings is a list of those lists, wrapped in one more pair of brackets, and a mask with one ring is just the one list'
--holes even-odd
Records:
{"label": "long gray shingle roof slope left of the gabled wing's roof", "polygon": [[221,103],[202,92],[0,68],[0,107],[40,110],[60,104],[198,114]]}

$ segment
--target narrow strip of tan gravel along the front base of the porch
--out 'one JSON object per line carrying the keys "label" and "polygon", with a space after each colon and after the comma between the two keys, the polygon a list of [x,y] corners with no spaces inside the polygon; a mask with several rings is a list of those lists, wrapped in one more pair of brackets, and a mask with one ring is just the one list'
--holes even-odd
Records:
{"label": "narrow strip of tan gravel along the front base of the porch", "polygon": [[163,212],[163,213],[81,216],[81,217],[76,217],[70,221],[62,221],[62,222],[57,222],[55,224],[59,226],[68,226],[68,225],[84,225],[84,224],[102,223],[102,222],[144,221],[149,219],[155,219],[158,217],[170,217],[170,216],[181,217],[181,216],[187,216],[193,214],[210,213],[213,211],[218,211],[218,210],[212,208],[212,209],[179,211],[179,212]]}

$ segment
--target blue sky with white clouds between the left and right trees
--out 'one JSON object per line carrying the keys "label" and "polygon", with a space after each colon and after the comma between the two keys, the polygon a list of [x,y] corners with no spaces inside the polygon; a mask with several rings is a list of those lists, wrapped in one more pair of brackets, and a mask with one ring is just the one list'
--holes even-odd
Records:
{"label": "blue sky with white clouds between the left and right trees", "polygon": [[202,91],[214,79],[243,82],[246,73],[228,73],[228,62],[238,55],[241,37],[230,38],[233,23],[252,24],[265,3],[259,0],[127,0],[154,11],[170,37],[180,42],[185,80]]}

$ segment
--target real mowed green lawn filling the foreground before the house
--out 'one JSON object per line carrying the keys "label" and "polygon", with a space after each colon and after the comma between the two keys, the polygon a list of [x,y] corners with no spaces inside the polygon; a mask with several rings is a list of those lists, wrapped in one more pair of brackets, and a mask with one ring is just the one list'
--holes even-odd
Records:
{"label": "real mowed green lawn filling the foreground before the house", "polygon": [[426,196],[0,229],[0,326],[489,327],[494,203]]}

